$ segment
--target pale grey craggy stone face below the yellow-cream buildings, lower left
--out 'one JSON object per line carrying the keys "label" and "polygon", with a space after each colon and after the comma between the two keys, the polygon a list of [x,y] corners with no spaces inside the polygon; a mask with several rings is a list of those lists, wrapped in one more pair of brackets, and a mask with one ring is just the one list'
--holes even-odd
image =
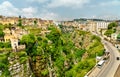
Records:
{"label": "pale grey craggy stone face below the yellow-cream buildings, lower left", "polygon": [[21,57],[17,53],[15,52],[8,57],[10,75],[12,77],[31,77],[32,71],[27,56]]}

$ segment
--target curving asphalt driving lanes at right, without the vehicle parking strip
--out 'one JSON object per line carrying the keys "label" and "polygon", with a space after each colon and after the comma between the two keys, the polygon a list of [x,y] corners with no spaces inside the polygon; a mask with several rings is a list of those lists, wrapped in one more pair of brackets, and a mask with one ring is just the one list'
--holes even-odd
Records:
{"label": "curving asphalt driving lanes at right, without the vehicle parking strip", "polygon": [[120,56],[119,51],[109,42],[102,40],[108,51],[110,52],[110,60],[101,68],[96,77],[114,77],[114,74],[120,64],[120,60],[116,60],[116,57]]}

